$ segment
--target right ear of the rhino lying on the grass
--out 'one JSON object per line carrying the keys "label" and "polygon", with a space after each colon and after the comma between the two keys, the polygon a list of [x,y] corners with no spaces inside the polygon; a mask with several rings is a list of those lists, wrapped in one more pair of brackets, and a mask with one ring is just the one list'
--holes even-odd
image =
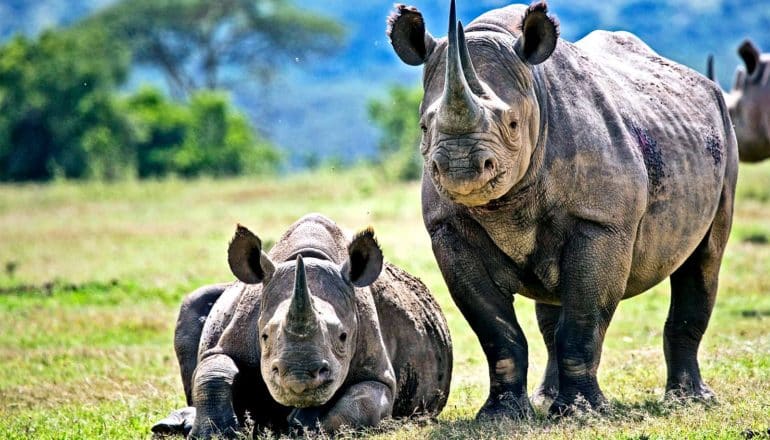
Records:
{"label": "right ear of the rhino lying on the grass", "polygon": [[348,261],[342,265],[342,276],[356,287],[372,284],[382,272],[382,250],[367,228],[353,237],[348,246]]}

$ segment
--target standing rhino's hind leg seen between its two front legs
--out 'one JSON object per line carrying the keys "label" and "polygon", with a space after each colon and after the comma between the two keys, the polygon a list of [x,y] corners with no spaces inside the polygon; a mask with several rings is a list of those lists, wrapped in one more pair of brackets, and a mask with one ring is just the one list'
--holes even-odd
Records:
{"label": "standing rhino's hind leg seen between its two front legs", "polygon": [[532,394],[532,401],[538,406],[550,405],[559,395],[559,366],[556,361],[556,324],[561,316],[561,307],[545,303],[535,304],[537,325],[548,350],[548,363],[543,381]]}

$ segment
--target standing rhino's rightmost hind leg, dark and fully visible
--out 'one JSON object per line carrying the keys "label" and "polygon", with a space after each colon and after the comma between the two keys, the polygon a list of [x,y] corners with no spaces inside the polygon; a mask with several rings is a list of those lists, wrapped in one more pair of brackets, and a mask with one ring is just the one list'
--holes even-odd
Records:
{"label": "standing rhino's rightmost hind leg, dark and fully visible", "polygon": [[668,377],[666,396],[712,400],[698,366],[698,346],[717,294],[719,267],[732,221],[733,194],[723,191],[716,217],[703,241],[671,275],[671,305],[663,336]]}

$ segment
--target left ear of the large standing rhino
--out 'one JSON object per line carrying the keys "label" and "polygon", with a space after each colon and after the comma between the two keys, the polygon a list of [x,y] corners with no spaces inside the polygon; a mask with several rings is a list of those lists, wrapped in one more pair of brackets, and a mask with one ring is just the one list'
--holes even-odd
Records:
{"label": "left ear of the large standing rhino", "polygon": [[385,33],[401,61],[419,66],[436,48],[436,40],[425,31],[425,21],[417,8],[402,4],[395,5],[395,8],[388,17]]}

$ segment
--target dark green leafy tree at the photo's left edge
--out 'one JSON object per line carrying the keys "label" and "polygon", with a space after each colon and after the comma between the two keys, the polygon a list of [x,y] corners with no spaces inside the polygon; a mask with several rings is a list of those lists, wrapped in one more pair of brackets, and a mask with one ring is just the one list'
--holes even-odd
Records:
{"label": "dark green leafy tree at the photo's left edge", "polygon": [[130,172],[129,131],[112,100],[129,63],[98,29],[0,47],[0,179]]}

